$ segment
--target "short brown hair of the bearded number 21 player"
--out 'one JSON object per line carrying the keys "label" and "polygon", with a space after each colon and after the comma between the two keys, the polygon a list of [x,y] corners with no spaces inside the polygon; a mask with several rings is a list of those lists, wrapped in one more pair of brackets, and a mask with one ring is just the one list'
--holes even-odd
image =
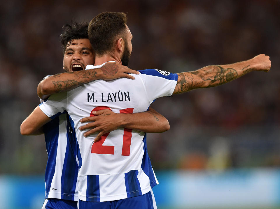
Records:
{"label": "short brown hair of the bearded number 21 player", "polygon": [[124,38],[126,22],[126,14],[120,12],[103,12],[90,21],[88,37],[95,54],[113,52],[115,40]]}

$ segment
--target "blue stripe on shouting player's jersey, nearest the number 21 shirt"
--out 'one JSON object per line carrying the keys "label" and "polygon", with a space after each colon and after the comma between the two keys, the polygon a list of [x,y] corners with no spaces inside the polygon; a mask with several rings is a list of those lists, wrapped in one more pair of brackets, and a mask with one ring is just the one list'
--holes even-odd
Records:
{"label": "blue stripe on shouting player's jersey, nearest the number 21 shirt", "polygon": [[79,167],[76,162],[76,132],[70,125],[69,117],[67,114],[67,145],[62,168],[61,198],[74,201]]}

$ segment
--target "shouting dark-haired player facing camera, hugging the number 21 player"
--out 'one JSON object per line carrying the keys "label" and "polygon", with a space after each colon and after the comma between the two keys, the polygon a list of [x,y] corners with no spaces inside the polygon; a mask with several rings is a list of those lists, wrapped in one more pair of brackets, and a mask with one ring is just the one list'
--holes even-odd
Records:
{"label": "shouting dark-haired player facing camera, hugging the number 21 player", "polygon": [[[88,23],[65,25],[63,29],[61,35],[63,68],[68,73],[49,76],[42,80],[38,85],[38,96],[41,99],[96,79],[134,78],[124,72],[136,73],[136,71],[116,63],[85,72],[85,66],[93,64],[95,58],[88,40]],[[169,129],[167,119],[153,109],[139,114],[114,114],[110,117],[108,115],[110,113],[100,116],[99,120],[95,119],[99,123],[99,129],[104,129],[102,125],[106,125],[106,128],[110,130],[115,130],[120,126],[148,132],[164,132]],[[104,124],[104,118],[108,120],[108,117],[111,124]],[[52,121],[36,132],[29,133],[45,133],[48,161],[45,174],[46,200],[42,208],[77,208],[79,167],[76,161],[76,134],[70,120],[69,115],[63,113],[53,117]]]}

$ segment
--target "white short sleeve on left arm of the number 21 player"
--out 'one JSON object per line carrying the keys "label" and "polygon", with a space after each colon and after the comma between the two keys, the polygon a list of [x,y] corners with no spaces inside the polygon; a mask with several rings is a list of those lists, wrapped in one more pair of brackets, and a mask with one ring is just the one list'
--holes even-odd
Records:
{"label": "white short sleeve on left arm of the number 21 player", "polygon": [[44,100],[39,108],[50,118],[55,118],[64,113],[67,107],[67,92],[52,94]]}

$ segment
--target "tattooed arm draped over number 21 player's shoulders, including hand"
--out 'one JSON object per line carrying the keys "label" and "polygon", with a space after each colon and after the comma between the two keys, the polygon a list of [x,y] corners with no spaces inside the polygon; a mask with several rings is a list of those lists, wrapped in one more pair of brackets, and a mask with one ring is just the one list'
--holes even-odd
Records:
{"label": "tattooed arm draped over number 21 player's shoulders, including hand", "polygon": [[120,77],[134,79],[128,73],[139,74],[135,70],[113,62],[106,63],[101,68],[59,73],[42,80],[37,87],[37,94],[41,99],[46,99],[51,94],[69,91],[98,79],[113,80]]}

